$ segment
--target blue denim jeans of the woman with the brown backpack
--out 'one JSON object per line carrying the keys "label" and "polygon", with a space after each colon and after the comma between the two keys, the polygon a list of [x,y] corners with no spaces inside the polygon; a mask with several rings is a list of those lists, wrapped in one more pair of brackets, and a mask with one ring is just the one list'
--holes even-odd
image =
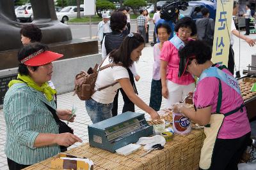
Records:
{"label": "blue denim jeans of the woman with the brown backpack", "polygon": [[85,101],[85,108],[93,124],[112,117],[113,103],[102,104],[91,98]]}

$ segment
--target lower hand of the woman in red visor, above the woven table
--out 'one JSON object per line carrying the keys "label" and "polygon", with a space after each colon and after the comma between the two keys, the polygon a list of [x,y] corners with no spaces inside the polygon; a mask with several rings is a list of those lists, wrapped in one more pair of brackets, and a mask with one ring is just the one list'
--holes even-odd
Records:
{"label": "lower hand of the woman in red visor, above the woven table", "polygon": [[56,138],[55,138],[55,143],[57,143],[60,146],[71,146],[76,142],[83,142],[82,139],[78,138],[76,135],[74,134],[70,134],[70,133],[61,133],[61,134],[57,134]]}

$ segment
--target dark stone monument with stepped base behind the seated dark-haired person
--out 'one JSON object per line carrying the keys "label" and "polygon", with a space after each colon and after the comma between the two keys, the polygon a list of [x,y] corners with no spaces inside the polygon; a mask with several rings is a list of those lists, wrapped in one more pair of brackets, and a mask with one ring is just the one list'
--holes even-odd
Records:
{"label": "dark stone monument with stepped base behind the seated dark-haired person", "polygon": [[[74,76],[79,71],[100,61],[98,41],[72,39],[70,27],[61,23],[56,16],[53,0],[30,2],[32,24],[42,30],[42,43],[49,45],[51,51],[64,54],[61,60],[54,62],[54,67],[59,70],[54,70],[58,76],[54,74],[52,80],[58,92],[68,92],[74,88]],[[24,24],[17,22],[14,1],[0,0],[0,107],[8,90],[8,82],[17,77],[17,52],[22,46],[20,29]]]}

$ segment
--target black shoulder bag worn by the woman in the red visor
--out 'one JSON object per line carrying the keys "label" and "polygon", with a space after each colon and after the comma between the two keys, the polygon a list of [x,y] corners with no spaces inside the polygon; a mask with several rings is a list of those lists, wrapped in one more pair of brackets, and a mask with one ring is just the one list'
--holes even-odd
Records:
{"label": "black shoulder bag worn by the woman in the red visor", "polygon": [[[74,130],[71,127],[69,127],[65,122],[60,120],[60,118],[56,114],[56,110],[54,110],[48,104],[46,104],[46,103],[44,103],[44,104],[48,108],[48,110],[51,111],[52,116],[59,127],[59,134],[66,133],[66,132],[68,132],[70,134],[74,134]],[[68,148],[67,146],[60,146],[61,152],[66,151],[67,148]]]}

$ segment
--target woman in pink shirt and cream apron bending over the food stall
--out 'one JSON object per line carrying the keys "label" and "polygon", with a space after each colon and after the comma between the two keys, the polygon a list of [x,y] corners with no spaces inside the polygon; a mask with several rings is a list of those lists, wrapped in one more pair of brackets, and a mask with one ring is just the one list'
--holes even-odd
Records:
{"label": "woman in pink shirt and cream apron bending over the food stall", "polygon": [[200,169],[237,169],[251,129],[236,78],[227,67],[211,62],[211,48],[204,41],[189,41],[179,56],[179,73],[199,78],[193,94],[196,110],[182,104],[173,109],[205,126]]}

